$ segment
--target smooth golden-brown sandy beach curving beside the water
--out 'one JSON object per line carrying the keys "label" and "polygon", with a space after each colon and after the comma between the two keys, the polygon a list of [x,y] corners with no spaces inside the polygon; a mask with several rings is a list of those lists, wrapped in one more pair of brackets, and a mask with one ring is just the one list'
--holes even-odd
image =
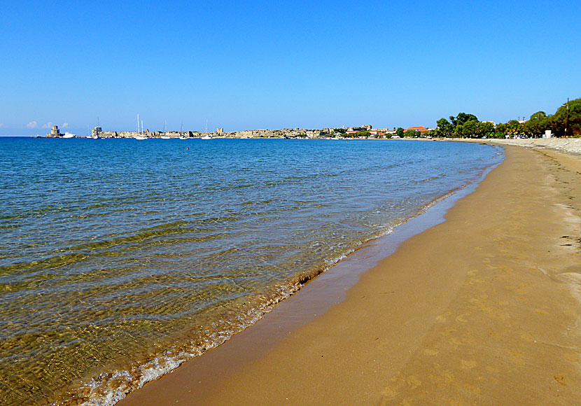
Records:
{"label": "smooth golden-brown sandy beach curving beside the water", "polygon": [[261,321],[118,405],[580,404],[581,158],[531,147],[324,314],[279,339]]}

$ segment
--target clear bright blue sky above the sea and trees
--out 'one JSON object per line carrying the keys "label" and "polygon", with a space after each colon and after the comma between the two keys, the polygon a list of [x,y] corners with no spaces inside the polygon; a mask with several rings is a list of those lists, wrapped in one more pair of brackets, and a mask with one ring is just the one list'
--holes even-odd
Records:
{"label": "clear bright blue sky above the sea and trees", "polygon": [[506,122],[581,97],[580,1],[0,0],[0,135]]}

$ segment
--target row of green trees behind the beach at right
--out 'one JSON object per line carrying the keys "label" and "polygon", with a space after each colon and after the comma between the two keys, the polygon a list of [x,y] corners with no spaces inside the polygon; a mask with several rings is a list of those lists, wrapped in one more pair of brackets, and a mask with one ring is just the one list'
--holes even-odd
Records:
{"label": "row of green trees behind the beach at right", "polygon": [[537,111],[524,123],[510,120],[495,126],[488,121],[479,121],[473,114],[458,113],[456,117],[450,116],[449,120],[437,120],[437,128],[426,135],[462,138],[542,137],[546,130],[550,130],[554,137],[581,137],[581,99],[561,105],[553,115]]}

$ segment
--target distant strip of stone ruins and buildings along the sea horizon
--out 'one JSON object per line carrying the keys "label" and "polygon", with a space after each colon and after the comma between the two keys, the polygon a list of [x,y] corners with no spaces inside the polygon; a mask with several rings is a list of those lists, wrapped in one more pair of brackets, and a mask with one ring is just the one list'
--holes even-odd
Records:
{"label": "distant strip of stone ruins and buildings along the sea horizon", "polygon": [[[137,139],[149,139],[149,138],[177,138],[177,139],[188,139],[188,138],[241,138],[241,139],[251,139],[251,138],[277,138],[277,139],[316,139],[321,137],[327,138],[400,138],[401,130],[403,132],[416,132],[419,137],[426,137],[426,133],[431,132],[435,129],[426,127],[409,127],[405,129],[400,129],[400,134],[398,135],[398,130],[393,128],[390,130],[388,128],[376,128],[374,129],[371,125],[361,125],[360,127],[342,127],[342,128],[325,128],[318,130],[307,130],[304,128],[283,128],[282,130],[245,130],[245,131],[233,131],[225,132],[223,128],[218,128],[216,132],[198,132],[198,131],[103,131],[102,127],[94,127],[91,131],[91,135],[86,136],[86,138],[137,138]],[[57,125],[52,126],[52,130],[49,134],[46,134],[48,138],[71,138],[73,134],[60,132]],[[85,138],[85,136],[73,136],[76,138]]]}

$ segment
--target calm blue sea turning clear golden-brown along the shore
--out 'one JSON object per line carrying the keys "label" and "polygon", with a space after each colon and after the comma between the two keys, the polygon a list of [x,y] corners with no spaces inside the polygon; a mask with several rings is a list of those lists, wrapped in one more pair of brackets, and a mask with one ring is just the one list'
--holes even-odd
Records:
{"label": "calm blue sea turning clear golden-brown along the shore", "polygon": [[0,404],[113,405],[472,185],[461,142],[0,138]]}

